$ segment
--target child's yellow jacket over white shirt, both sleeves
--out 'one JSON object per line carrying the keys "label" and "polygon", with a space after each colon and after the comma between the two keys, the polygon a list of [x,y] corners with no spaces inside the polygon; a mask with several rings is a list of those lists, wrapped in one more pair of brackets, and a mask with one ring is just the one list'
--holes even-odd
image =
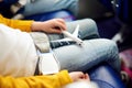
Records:
{"label": "child's yellow jacket over white shirt, both sleeves", "polygon": [[[21,31],[31,31],[33,21],[10,20],[0,15],[0,23]],[[51,76],[11,77],[0,76],[0,88],[61,88],[72,82],[67,70]]]}

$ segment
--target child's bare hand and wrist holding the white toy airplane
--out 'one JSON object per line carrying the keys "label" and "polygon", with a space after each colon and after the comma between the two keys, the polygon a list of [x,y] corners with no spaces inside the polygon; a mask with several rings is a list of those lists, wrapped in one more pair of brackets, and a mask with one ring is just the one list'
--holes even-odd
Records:
{"label": "child's bare hand and wrist holding the white toy airplane", "polygon": [[62,30],[66,30],[66,24],[63,19],[53,19],[45,22],[34,22],[32,24],[32,31],[43,31],[46,33],[62,33]]}

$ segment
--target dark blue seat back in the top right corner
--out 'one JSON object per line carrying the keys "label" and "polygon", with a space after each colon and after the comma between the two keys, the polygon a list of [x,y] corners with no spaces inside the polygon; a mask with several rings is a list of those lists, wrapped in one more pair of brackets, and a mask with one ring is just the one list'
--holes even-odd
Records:
{"label": "dark blue seat back in the top right corner", "polygon": [[112,0],[113,9],[124,23],[132,23],[132,0]]}

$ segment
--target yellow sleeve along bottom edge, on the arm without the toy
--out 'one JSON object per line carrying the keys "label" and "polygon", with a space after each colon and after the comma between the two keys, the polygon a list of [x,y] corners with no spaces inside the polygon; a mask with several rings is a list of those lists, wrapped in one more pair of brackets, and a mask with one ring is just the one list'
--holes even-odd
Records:
{"label": "yellow sleeve along bottom edge, on the arm without the toy", "polygon": [[0,77],[0,88],[61,88],[72,81],[67,70],[63,70],[48,76]]}

